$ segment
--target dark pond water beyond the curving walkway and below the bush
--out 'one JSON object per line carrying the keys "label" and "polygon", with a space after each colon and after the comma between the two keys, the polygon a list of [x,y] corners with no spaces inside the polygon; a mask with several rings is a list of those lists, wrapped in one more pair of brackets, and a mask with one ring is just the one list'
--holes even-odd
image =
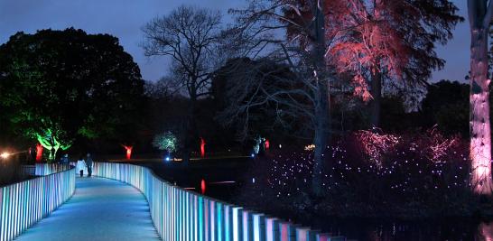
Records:
{"label": "dark pond water beyond the curving walkway and below the bush", "polygon": [[[214,181],[238,181],[247,169],[246,160],[209,160],[195,162],[185,167],[180,163],[137,162],[153,169],[163,179],[176,181],[182,187],[193,187],[200,191],[200,180],[208,183],[206,195],[231,201],[241,188],[240,183],[213,185]],[[447,218],[442,220],[396,221],[388,219],[330,219],[310,218],[296,220],[296,223],[335,235],[346,236],[348,240],[359,241],[493,241],[493,220],[468,218]]]}

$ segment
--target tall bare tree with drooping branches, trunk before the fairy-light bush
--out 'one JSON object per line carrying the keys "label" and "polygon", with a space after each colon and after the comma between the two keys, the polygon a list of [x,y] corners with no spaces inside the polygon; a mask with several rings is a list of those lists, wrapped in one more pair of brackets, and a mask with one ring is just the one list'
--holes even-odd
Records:
{"label": "tall bare tree with drooping branches, trunk before the fairy-light bush", "polygon": [[[229,117],[230,121],[234,121],[231,117],[242,116],[246,125],[254,108],[267,105],[275,108],[281,122],[302,116],[306,126],[312,129],[316,146],[312,168],[315,194],[322,191],[322,156],[330,140],[330,82],[335,82],[334,69],[328,68],[325,55],[334,36],[326,38],[323,3],[323,0],[306,1],[306,4],[254,0],[247,9],[232,11],[237,14],[237,39],[231,41],[241,51],[237,54],[258,60],[259,64],[237,61],[237,68],[231,68],[238,78],[243,78],[229,87],[229,96],[236,101],[222,113],[223,119]],[[286,17],[289,9],[300,14]],[[305,20],[302,12],[311,18]],[[287,69],[290,74],[279,74],[279,70],[268,70],[265,65]]]}

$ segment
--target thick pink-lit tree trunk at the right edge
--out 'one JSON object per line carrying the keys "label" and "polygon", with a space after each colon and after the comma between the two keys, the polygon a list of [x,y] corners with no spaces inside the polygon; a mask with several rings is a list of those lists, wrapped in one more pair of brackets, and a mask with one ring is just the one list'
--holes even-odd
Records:
{"label": "thick pink-lit tree trunk at the right edge", "polygon": [[475,193],[491,195],[491,130],[489,124],[488,29],[491,1],[468,0],[470,21],[470,159]]}

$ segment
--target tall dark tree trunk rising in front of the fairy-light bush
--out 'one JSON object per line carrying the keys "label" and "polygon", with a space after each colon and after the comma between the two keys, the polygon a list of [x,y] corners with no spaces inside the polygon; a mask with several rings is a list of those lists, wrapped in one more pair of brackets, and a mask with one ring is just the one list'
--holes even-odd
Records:
{"label": "tall dark tree trunk rising in front of the fairy-light bush", "polygon": [[327,146],[330,128],[330,103],[329,80],[327,79],[327,66],[325,63],[325,18],[323,15],[323,1],[313,0],[314,19],[314,48],[312,58],[314,60],[315,76],[317,81],[317,93],[315,93],[315,152],[313,156],[312,191],[315,195],[322,194],[322,173],[324,171],[323,152]]}

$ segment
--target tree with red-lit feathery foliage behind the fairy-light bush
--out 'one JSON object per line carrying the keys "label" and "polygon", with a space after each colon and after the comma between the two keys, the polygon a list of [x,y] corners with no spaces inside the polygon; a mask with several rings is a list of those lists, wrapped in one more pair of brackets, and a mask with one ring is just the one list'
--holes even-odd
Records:
{"label": "tree with red-lit feathery foliage behind the fairy-light bush", "polygon": [[[379,125],[384,79],[405,88],[423,87],[432,70],[441,69],[436,43],[445,44],[462,18],[449,0],[347,0],[328,1],[334,20],[344,25],[331,48],[339,72],[349,72],[362,88],[371,83],[371,125]],[[330,33],[332,34],[332,33]],[[401,80],[395,82],[395,80]]]}

